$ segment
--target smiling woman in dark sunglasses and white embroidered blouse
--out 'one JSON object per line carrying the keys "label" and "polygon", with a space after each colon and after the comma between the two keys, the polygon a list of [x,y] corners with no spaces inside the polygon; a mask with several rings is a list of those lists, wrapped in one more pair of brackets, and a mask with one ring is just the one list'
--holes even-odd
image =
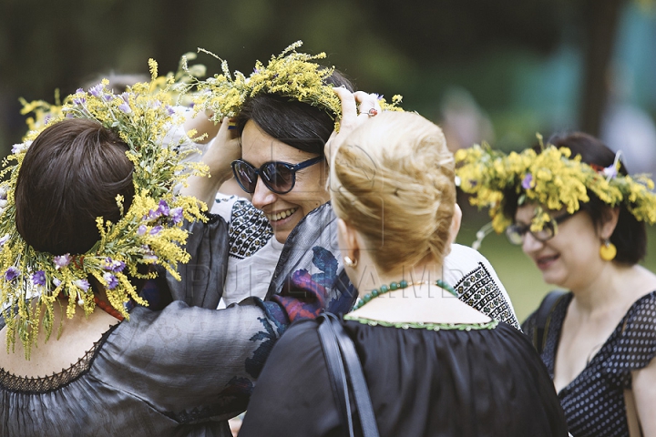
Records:
{"label": "smiling woman in dark sunglasses and white embroidered blouse", "polygon": [[[343,313],[353,307],[355,294],[337,253],[336,218],[325,184],[330,150],[324,146],[342,117],[334,90],[353,86],[339,72],[316,64],[320,56],[297,53],[298,46],[272,57],[267,66],[258,63],[248,80],[215,76],[200,83],[198,107],[210,110],[220,129],[203,157],[211,178],[190,178],[185,192],[213,204],[212,212],[230,225],[226,258],[213,260],[226,266],[220,272],[226,278],[226,305],[319,287],[327,298],[317,302],[316,314],[325,308]],[[235,94],[247,97],[235,104]],[[360,121],[390,107],[374,94],[347,95],[358,104]],[[251,201],[217,195],[232,176]],[[445,272],[462,300],[519,326],[497,274],[476,250],[453,245]],[[486,293],[477,292],[483,288]]]}

